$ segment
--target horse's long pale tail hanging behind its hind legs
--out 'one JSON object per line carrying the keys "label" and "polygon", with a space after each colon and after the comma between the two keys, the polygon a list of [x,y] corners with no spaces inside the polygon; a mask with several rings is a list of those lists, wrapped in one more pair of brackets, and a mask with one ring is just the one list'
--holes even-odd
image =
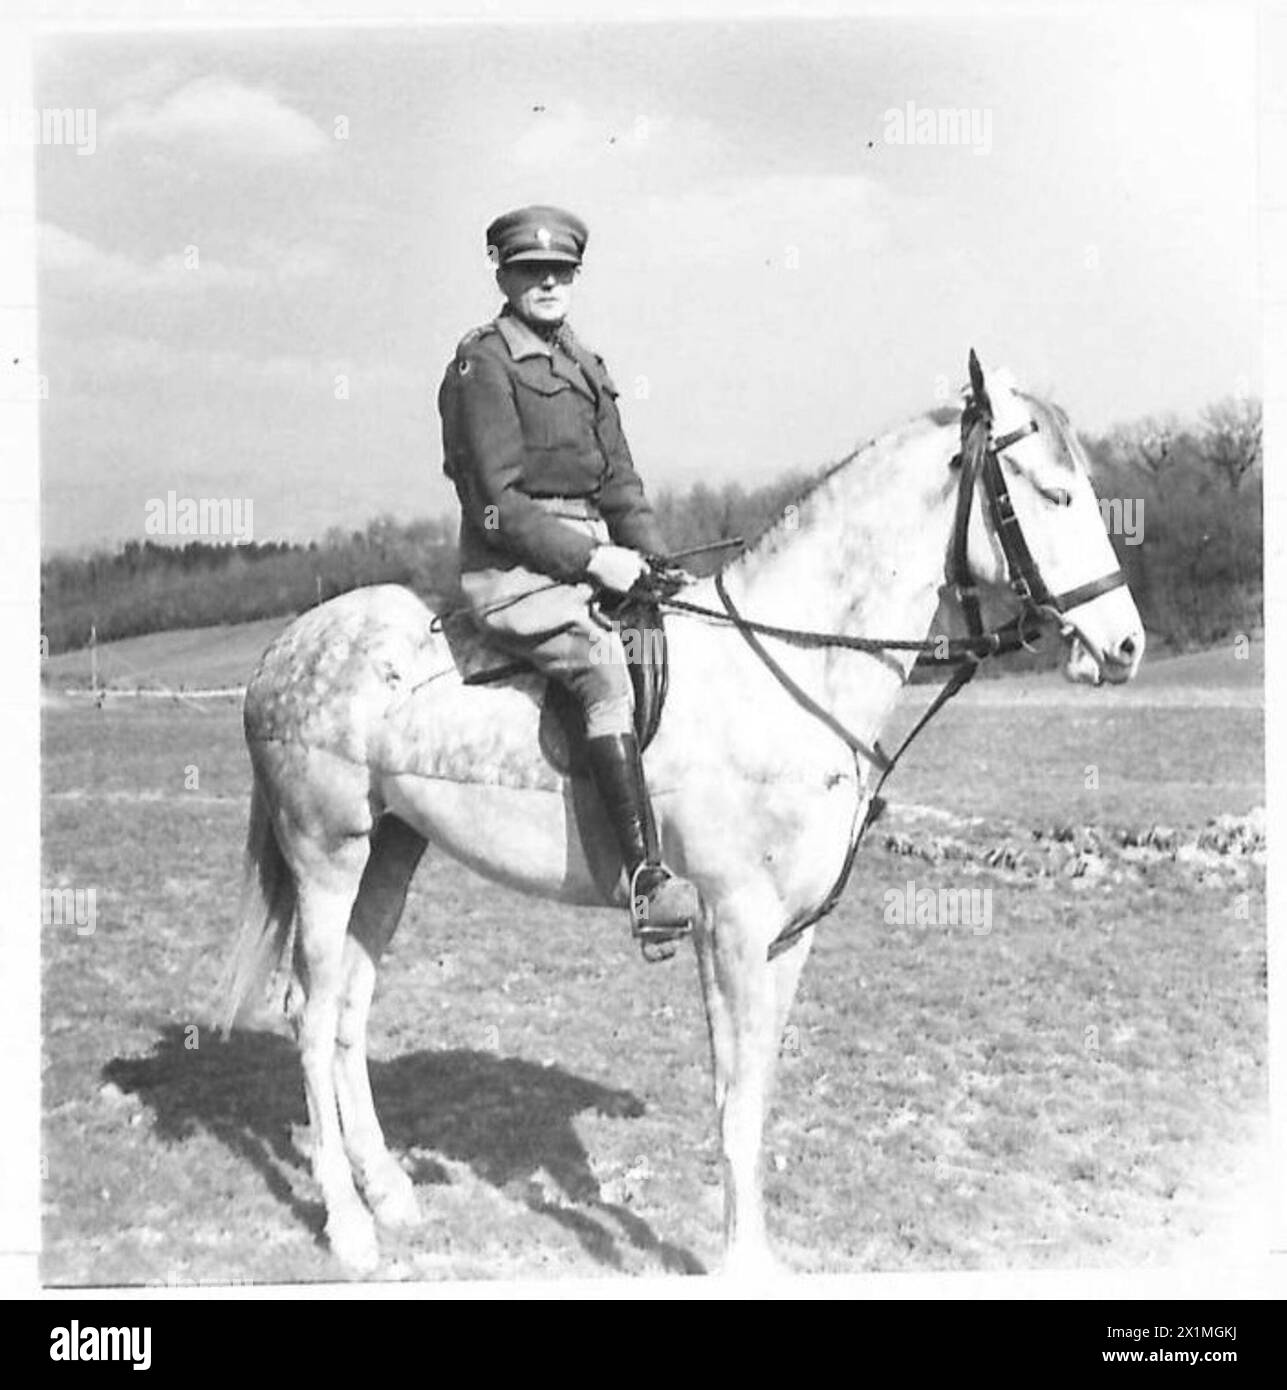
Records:
{"label": "horse's long pale tail hanging behind its hind legs", "polygon": [[256,773],[242,872],[240,930],[220,981],[224,1036],[243,1022],[243,1015],[249,1022],[265,1005],[285,1012],[297,987],[295,876],[277,841],[268,798]]}

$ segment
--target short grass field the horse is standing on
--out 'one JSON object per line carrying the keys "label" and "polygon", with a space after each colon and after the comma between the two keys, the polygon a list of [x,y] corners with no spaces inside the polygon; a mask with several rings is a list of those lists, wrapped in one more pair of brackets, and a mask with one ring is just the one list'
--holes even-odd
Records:
{"label": "short grass field the horse is standing on", "polygon": [[[972,688],[899,769],[782,1044],[789,1268],[1162,1264],[1209,1226],[1268,1105],[1263,853],[1201,831],[1263,802],[1263,713],[1258,653],[1177,662]],[[335,1275],[292,1044],[207,1027],[247,790],[235,702],[46,709],[44,884],[97,905],[43,927],[47,1282]],[[991,930],[887,923],[909,880],[991,890]],[[372,1020],[425,1222],[381,1277],[714,1265],[695,972],[627,931],[427,856]]]}

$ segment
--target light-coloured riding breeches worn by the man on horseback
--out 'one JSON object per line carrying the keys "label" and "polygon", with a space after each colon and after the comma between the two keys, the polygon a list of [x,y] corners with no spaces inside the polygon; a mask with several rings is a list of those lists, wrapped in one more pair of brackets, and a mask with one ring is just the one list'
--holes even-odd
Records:
{"label": "light-coloured riding breeches worn by the man on horseback", "polygon": [[[545,505],[564,525],[609,542],[607,524],[588,507],[566,499]],[[625,649],[591,613],[591,585],[560,584],[516,566],[468,569],[460,575],[460,588],[474,621],[498,646],[571,691],[585,712],[588,737],[634,730]]]}

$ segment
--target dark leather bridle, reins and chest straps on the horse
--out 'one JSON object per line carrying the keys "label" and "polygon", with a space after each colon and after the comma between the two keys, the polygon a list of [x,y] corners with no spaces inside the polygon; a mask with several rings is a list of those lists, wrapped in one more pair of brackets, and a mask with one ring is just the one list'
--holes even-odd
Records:
{"label": "dark leather bridle, reins and chest straps on the horse", "polygon": [[[795,702],[821,721],[839,739],[842,739],[853,753],[855,771],[859,785],[862,785],[860,760],[866,758],[880,773],[871,795],[867,798],[867,809],[860,815],[863,798],[859,795],[858,808],[853,815],[853,827],[849,833],[849,848],[841,865],[839,874],[831,885],[827,897],[816,906],[788,923],[769,947],[769,959],[773,960],[782,951],[795,945],[809,927],[821,922],[833,912],[844,895],[853,870],[853,860],[869,827],[880,817],[885,809],[881,790],[894,771],[898,760],[908,751],[921,730],[934,716],[958,695],[974,677],[978,666],[988,656],[998,656],[1006,652],[1016,652],[1020,648],[1031,651],[1027,634],[1027,624],[1040,626],[1049,621],[1060,623],[1063,630],[1069,628],[1065,614],[1109,594],[1112,589],[1126,584],[1122,570],[1113,570],[1102,578],[1092,580],[1077,588],[1066,589],[1062,594],[1052,594],[1047,585],[1041,567],[1028,548],[1023,535],[1023,527],[1015,514],[1010,491],[1005,481],[999,455],[1005,453],[1010,445],[1030,434],[1037,432],[1037,421],[1028,420],[1026,425],[1013,430],[998,439],[992,438],[992,407],[983,391],[976,391],[969,399],[965,413],[960,417],[960,452],[952,459],[952,467],[959,467],[960,482],[956,493],[956,516],[952,531],[952,546],[948,556],[948,573],[945,589],[960,603],[965,613],[966,626],[970,635],[965,638],[944,639],[881,639],[864,637],[846,637],[841,632],[810,632],[799,628],[774,627],[767,623],[756,623],[744,617],[732,602],[724,584],[723,571],[714,577],[716,594],[724,605],[724,612],[707,609],[698,603],[687,603],[677,598],[663,598],[660,602],[670,609],[682,613],[713,617],[731,623],[742,634],[755,655],[764,663],[778,684],[795,699]],[[970,573],[969,564],[969,531],[970,512],[973,507],[976,485],[983,480],[983,489],[987,498],[988,513],[992,530],[1001,542],[1006,560],[1009,585],[1019,599],[1020,610],[1016,617],[1001,627],[987,630],[983,624],[983,613],[978,603],[978,584]],[[902,652],[935,652],[940,657],[955,660],[956,670],[951,680],[942,687],[930,708],[912,727],[910,733],[899,744],[898,749],[890,755],[876,741],[867,746],[851,730],[848,730],[830,710],[824,709],[808,691],[805,691],[764,648],[762,637],[778,638],[796,646],[809,648],[838,648],[845,651],[867,652],[883,655],[891,651]]]}

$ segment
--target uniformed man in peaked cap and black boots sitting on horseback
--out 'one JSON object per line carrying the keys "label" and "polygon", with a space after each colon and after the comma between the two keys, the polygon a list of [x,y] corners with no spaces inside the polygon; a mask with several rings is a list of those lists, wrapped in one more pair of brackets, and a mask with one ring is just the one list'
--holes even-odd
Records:
{"label": "uniformed man in peaked cap and black boots sitting on horseback", "polygon": [[498,646],[575,696],[644,941],[692,930],[698,895],[662,863],[616,632],[592,600],[625,594],[664,550],[617,388],[567,327],[585,224],[524,207],[486,229],[505,307],[466,334],[438,393],[443,471],[460,498],[460,588]]}

